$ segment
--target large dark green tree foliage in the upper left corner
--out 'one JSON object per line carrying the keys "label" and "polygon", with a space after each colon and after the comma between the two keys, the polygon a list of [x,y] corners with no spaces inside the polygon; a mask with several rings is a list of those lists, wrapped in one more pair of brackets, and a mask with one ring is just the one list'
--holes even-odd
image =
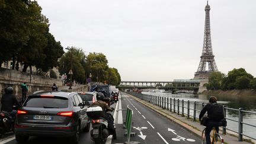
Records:
{"label": "large dark green tree foliage in the upper left corner", "polygon": [[0,62],[13,61],[36,66],[47,72],[57,66],[63,47],[49,33],[49,20],[41,14],[37,1],[1,0],[0,2]]}

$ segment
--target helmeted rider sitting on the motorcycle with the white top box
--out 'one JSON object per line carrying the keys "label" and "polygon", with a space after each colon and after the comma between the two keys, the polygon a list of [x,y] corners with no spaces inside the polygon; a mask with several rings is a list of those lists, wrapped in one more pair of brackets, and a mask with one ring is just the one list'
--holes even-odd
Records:
{"label": "helmeted rider sitting on the motorcycle with the white top box", "polygon": [[108,121],[108,126],[110,130],[114,130],[114,117],[111,114],[106,113],[107,111],[113,111],[114,108],[108,107],[108,104],[103,101],[104,100],[103,93],[98,92],[96,97],[97,97],[97,101],[95,101],[92,105],[98,105],[103,109],[103,113],[102,113],[103,118]]}

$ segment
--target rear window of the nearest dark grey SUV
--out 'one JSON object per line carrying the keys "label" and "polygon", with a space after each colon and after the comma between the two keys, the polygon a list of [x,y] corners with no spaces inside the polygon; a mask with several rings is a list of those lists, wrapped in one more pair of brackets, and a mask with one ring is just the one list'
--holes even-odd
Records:
{"label": "rear window of the nearest dark grey SUV", "polygon": [[39,107],[39,108],[67,108],[68,98],[64,97],[28,97],[24,103],[24,107]]}

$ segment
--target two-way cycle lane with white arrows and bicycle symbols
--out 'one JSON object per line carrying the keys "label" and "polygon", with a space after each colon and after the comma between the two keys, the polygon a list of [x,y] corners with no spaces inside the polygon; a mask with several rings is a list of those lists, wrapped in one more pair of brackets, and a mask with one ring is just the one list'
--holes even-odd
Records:
{"label": "two-way cycle lane with white arrows and bicycle symbols", "polygon": [[[140,143],[200,143],[200,138],[183,129],[183,127],[172,123],[148,107],[138,103],[127,94],[122,93],[121,105],[125,120],[127,105],[133,110],[133,129],[137,135],[130,138],[130,141]],[[117,129],[117,140],[112,143],[124,143],[125,130]]]}

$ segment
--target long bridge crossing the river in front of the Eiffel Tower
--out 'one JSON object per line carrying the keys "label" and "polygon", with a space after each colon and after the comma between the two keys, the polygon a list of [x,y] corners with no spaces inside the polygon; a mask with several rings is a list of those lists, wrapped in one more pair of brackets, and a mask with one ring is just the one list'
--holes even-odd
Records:
{"label": "long bridge crossing the river in front of the Eiffel Tower", "polygon": [[198,92],[200,88],[200,81],[194,80],[179,80],[174,81],[121,81],[117,88],[121,89],[165,89],[166,91],[187,90]]}

